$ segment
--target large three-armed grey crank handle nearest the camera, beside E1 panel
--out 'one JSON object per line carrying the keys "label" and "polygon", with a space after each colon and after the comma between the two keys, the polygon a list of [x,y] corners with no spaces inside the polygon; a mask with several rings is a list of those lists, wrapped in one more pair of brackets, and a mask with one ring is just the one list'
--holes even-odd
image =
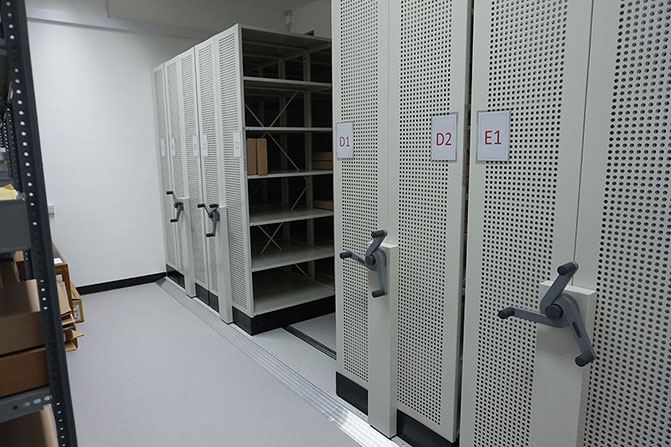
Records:
{"label": "large three-armed grey crank handle nearest the camera, beside E1 panel", "polygon": [[558,328],[569,326],[580,348],[580,355],[575,358],[575,363],[582,368],[596,360],[596,353],[583,324],[578,303],[570,295],[564,293],[564,289],[577,271],[578,264],[575,262],[569,262],[557,269],[559,276],[541,300],[540,312],[506,307],[500,310],[498,315],[502,319],[517,317]]}

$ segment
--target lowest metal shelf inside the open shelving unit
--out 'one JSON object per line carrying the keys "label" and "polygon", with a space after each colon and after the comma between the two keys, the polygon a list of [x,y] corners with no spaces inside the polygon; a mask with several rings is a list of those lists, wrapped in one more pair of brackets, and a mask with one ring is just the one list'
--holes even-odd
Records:
{"label": "lowest metal shelf inside the open shelving unit", "polygon": [[322,284],[286,271],[255,275],[254,314],[260,315],[335,295],[332,284]]}

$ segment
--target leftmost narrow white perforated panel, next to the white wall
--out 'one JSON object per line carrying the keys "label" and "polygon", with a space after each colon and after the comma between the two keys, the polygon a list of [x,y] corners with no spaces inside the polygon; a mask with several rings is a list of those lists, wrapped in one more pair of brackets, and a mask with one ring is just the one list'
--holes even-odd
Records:
{"label": "leftmost narrow white perforated panel, next to the white wall", "polygon": [[[163,232],[164,232],[164,242],[165,242],[165,256],[166,264],[172,268],[177,268],[177,245],[175,239],[175,229],[170,225],[170,216],[172,213],[172,204],[170,198],[166,196],[165,192],[172,189],[172,180],[171,180],[171,167],[170,167],[170,158],[169,158],[169,148],[168,148],[168,123],[166,115],[166,103],[165,103],[165,79],[164,79],[164,66],[161,65],[154,69],[152,73],[152,81],[154,88],[154,113],[156,116],[156,128],[157,128],[157,143],[158,147],[156,151],[158,153],[158,162],[159,162],[159,174],[160,174],[160,200],[161,200],[161,212],[163,215]],[[161,147],[162,144],[165,145],[164,149]],[[165,154],[162,151],[165,150]]]}

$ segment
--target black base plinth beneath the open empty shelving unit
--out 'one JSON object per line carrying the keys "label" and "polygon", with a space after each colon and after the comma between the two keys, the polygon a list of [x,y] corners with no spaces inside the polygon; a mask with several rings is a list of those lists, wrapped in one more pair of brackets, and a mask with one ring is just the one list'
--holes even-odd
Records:
{"label": "black base plinth beneath the open empty shelving unit", "polygon": [[255,317],[249,317],[233,307],[233,322],[249,335],[256,335],[332,312],[335,312],[335,299],[328,297]]}

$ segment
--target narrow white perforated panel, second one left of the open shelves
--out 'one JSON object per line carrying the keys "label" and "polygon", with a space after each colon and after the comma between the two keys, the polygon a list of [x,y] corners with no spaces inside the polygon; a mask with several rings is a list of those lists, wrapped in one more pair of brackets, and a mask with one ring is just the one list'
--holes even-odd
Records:
{"label": "narrow white perforated panel, second one left of the open shelves", "polygon": [[[203,185],[205,187],[205,203],[219,203],[219,166],[217,164],[218,149],[216,125],[216,109],[214,105],[214,49],[213,45],[205,45],[198,48],[198,106],[200,107],[200,127],[201,132],[207,136],[208,156],[203,157]],[[209,218],[205,218],[205,212],[202,209],[197,210],[203,214],[205,225],[208,231],[211,229]],[[210,274],[210,290],[219,293],[219,278],[217,275],[217,245],[215,238],[207,238],[208,271]]]}

